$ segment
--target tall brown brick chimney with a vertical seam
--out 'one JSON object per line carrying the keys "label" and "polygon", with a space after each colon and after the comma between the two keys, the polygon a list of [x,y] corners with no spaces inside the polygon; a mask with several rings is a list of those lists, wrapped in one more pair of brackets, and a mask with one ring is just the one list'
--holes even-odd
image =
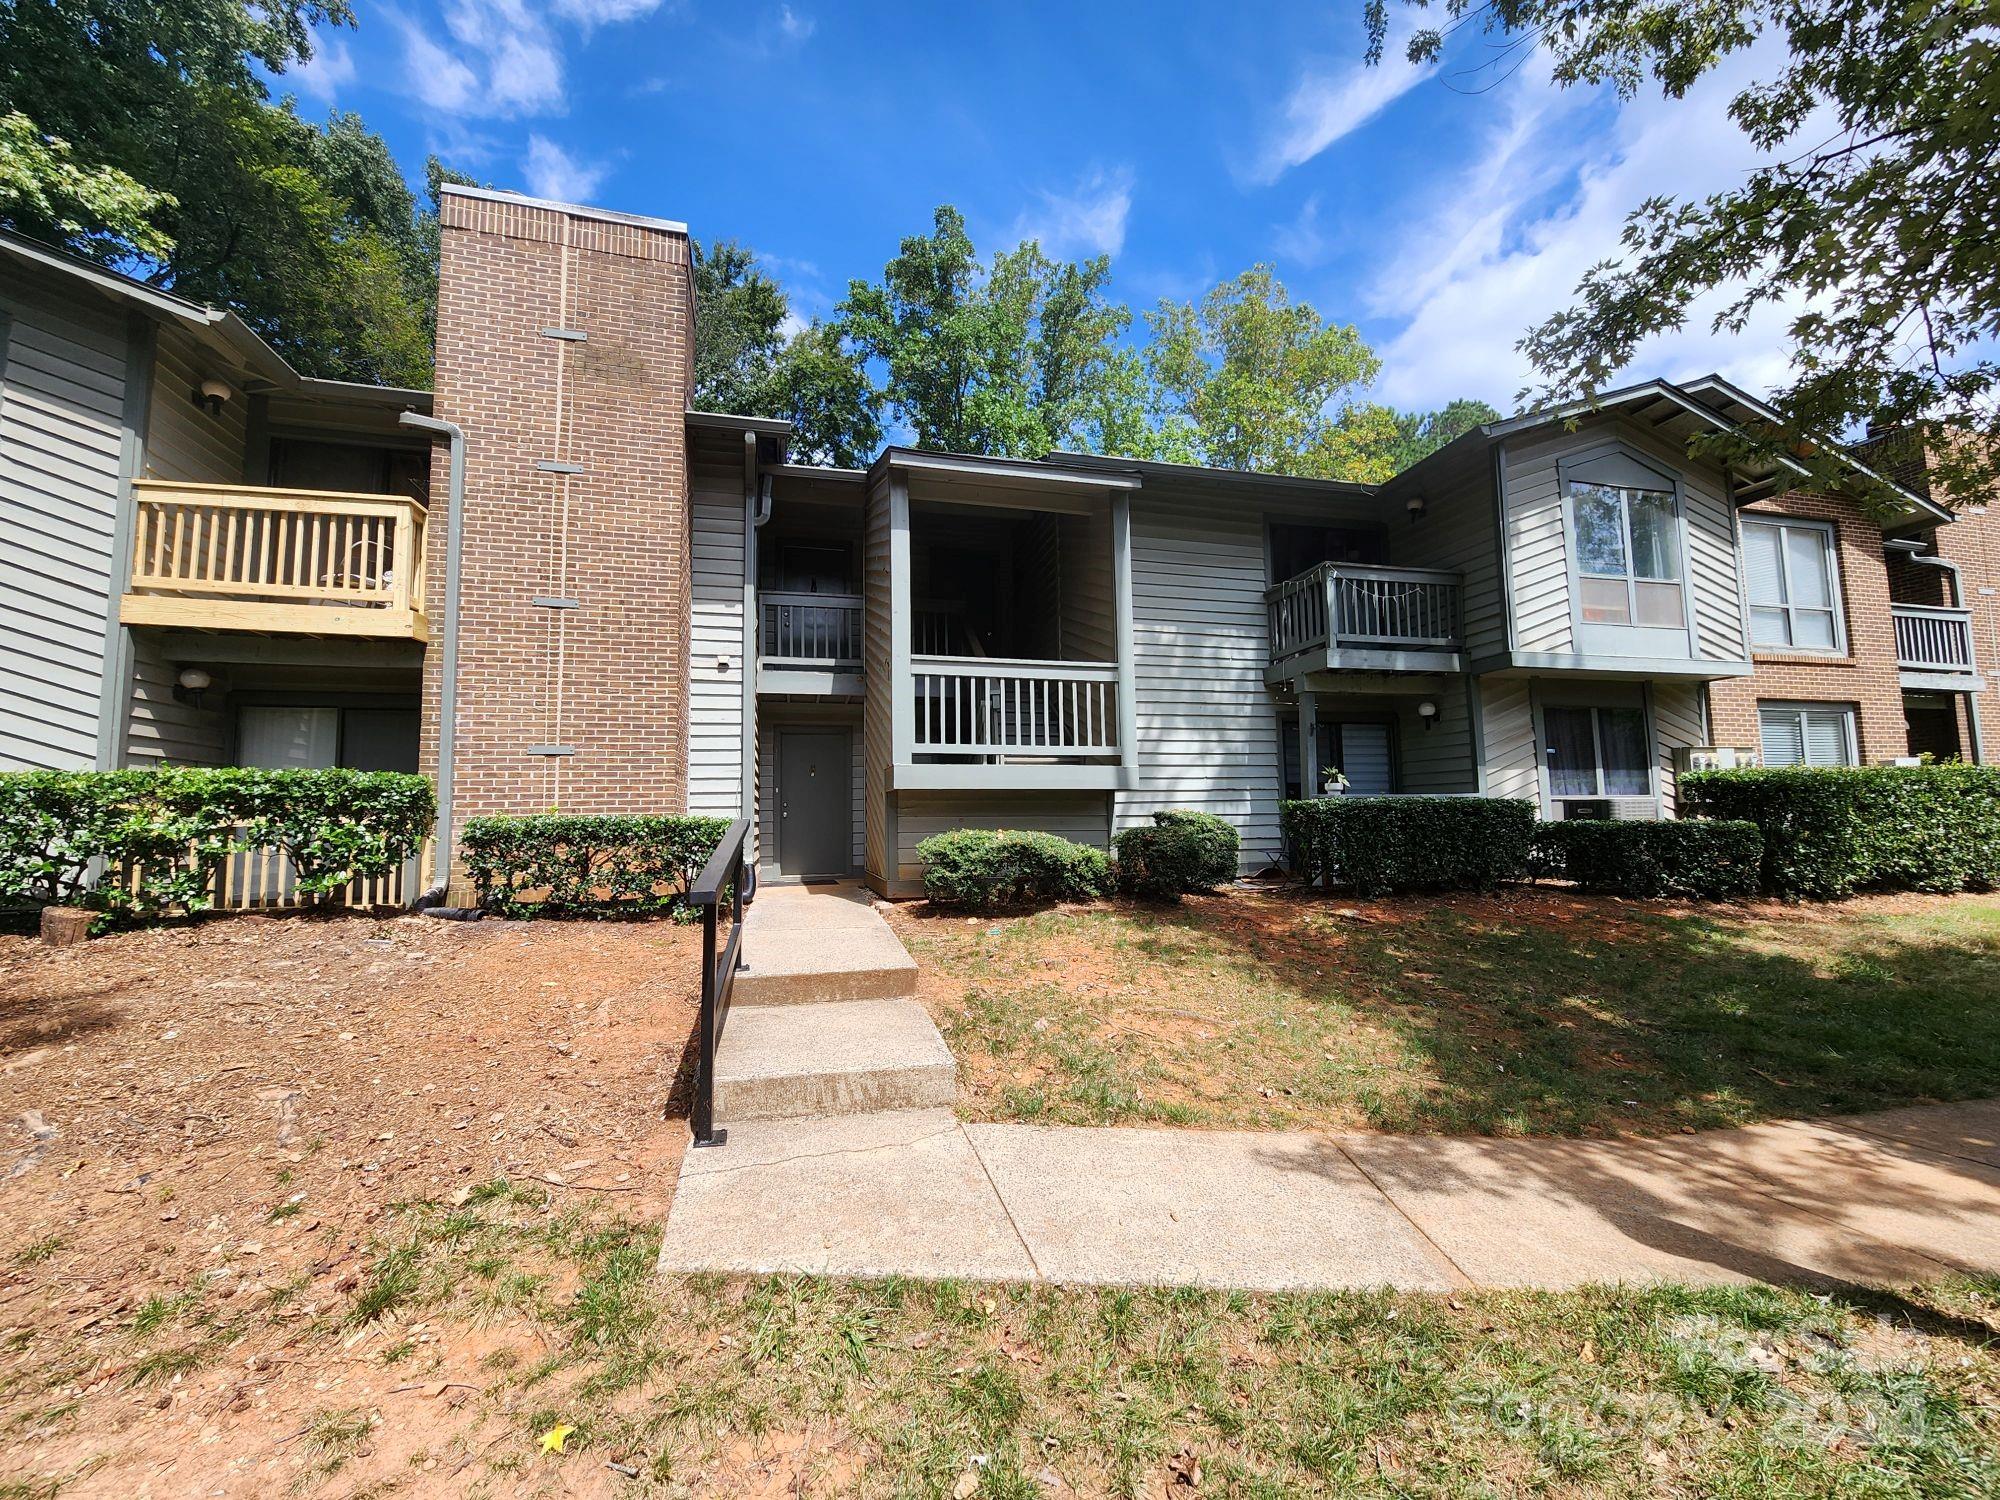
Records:
{"label": "tall brown brick chimney with a vertical seam", "polygon": [[[436,414],[466,430],[460,822],[680,812],[688,786],[688,238],[446,190]],[[546,330],[576,330],[582,340]],[[578,464],[580,474],[538,468]],[[428,598],[440,618],[444,448]],[[574,598],[580,608],[538,606]],[[424,770],[442,652],[424,652]],[[572,746],[572,756],[534,754]]]}

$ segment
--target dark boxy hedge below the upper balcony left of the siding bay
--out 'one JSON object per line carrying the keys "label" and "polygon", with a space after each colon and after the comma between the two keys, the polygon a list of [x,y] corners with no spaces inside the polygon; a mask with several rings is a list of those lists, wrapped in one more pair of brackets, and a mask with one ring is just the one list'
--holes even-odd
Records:
{"label": "dark boxy hedge below the upper balcony left of the siding bay", "polygon": [[1534,804],[1510,796],[1322,796],[1278,816],[1294,874],[1362,896],[1518,880],[1536,822]]}

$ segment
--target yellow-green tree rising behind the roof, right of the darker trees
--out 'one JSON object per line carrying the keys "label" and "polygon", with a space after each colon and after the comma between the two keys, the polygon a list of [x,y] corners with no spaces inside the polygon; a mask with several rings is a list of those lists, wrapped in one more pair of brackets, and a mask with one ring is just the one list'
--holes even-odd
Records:
{"label": "yellow-green tree rising behind the roof, right of the darker trees", "polygon": [[1352,324],[1292,302],[1252,266],[1196,302],[1146,314],[1162,456],[1266,474],[1382,480],[1394,414],[1360,402],[1382,362]]}

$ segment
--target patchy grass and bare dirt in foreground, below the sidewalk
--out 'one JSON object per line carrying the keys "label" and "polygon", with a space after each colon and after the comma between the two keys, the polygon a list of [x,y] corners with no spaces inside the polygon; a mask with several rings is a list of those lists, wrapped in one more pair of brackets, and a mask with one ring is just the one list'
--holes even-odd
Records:
{"label": "patchy grass and bare dirt in foreground, below the sidewalk", "polygon": [[[120,1428],[168,1398],[194,1412],[174,1492],[2000,1486],[1994,1280],[1444,1298],[660,1278],[656,1230],[610,1208],[520,1182],[462,1198],[384,1214],[330,1300],[196,1274],[104,1326],[16,1314],[0,1496],[132,1494]],[[244,1380],[308,1404],[278,1432],[232,1394]],[[224,1412],[242,1412],[230,1444],[204,1452]]]}

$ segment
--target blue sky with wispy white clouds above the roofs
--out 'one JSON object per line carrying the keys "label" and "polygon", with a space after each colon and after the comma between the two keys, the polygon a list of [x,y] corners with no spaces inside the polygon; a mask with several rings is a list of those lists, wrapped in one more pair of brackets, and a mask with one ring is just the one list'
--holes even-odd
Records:
{"label": "blue sky with wispy white clouds above the roofs", "polygon": [[[1252,262],[1356,322],[1376,396],[1510,410],[1512,344],[1564,306],[1654,192],[1750,164],[1722,114],[1556,90],[1460,36],[1430,72],[1362,66],[1360,4],[938,6],[824,0],[358,0],[280,80],[358,110],[412,180],[428,152],[498,186],[686,220],[754,246],[802,314],[958,204],[982,252],[1110,254],[1136,310]],[[1512,68],[1512,72],[1508,70]],[[1656,340],[1636,374],[1784,374],[1782,314]]]}

